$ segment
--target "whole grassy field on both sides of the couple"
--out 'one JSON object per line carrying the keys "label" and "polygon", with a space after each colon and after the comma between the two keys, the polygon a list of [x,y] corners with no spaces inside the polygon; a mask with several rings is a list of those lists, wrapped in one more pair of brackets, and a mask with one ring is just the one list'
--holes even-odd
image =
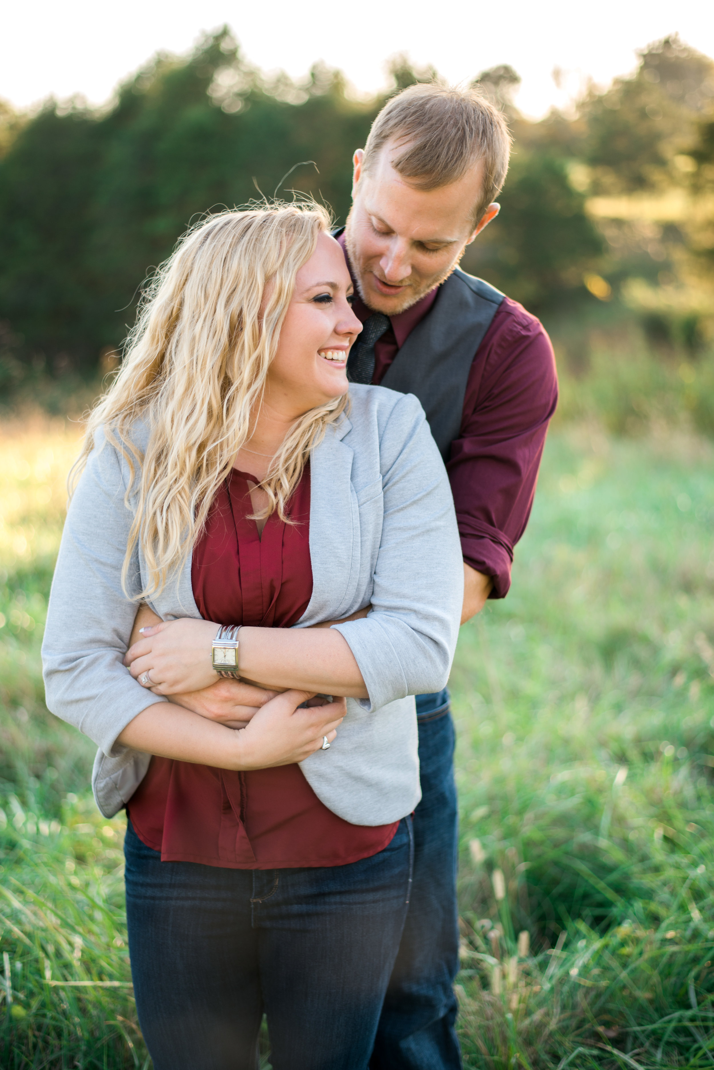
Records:
{"label": "whole grassy field on both sides of the couple", "polygon": [[[45,710],[38,652],[77,428],[0,437],[0,1065],[149,1067],[123,822]],[[714,1064],[714,450],[549,440],[513,588],[462,630],[468,1067]]]}

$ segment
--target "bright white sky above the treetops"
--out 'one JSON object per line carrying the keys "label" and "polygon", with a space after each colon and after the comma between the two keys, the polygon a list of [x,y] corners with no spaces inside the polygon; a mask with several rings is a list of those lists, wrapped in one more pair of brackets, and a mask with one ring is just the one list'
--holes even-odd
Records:
{"label": "bright white sky above the treetops", "polygon": [[[298,0],[24,0],[0,15],[0,97],[17,107],[49,94],[105,102],[155,51],[185,52],[203,30],[228,22],[251,62],[305,75],[315,60],[341,67],[360,92],[386,82],[385,61],[407,52],[451,81],[497,63],[523,78],[516,103],[530,116],[566,105],[588,76],[607,83],[631,71],[635,49],[668,33],[714,57],[711,0],[409,0],[361,5]],[[560,89],[554,68],[563,73]]]}

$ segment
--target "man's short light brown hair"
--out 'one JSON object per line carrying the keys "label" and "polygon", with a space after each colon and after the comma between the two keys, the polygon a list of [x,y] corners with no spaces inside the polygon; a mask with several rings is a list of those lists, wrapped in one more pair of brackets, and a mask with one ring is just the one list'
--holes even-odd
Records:
{"label": "man's short light brown hair", "polygon": [[511,136],[502,113],[478,89],[421,82],[392,96],[372,123],[362,169],[369,171],[387,142],[391,166],[420,189],[447,186],[483,160],[478,223],[498,196],[508,171]]}

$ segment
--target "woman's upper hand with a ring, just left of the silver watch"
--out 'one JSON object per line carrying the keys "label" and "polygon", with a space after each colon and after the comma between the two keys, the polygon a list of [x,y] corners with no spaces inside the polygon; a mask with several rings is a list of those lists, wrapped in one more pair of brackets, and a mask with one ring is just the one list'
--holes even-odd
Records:
{"label": "woman's upper hand with a ring, just left of the silver watch", "polygon": [[[142,629],[142,639],[129,646],[124,664],[135,679],[149,673],[154,694],[202,691],[219,677],[211,661],[218,625],[182,617]],[[141,681],[140,681],[141,682]]]}

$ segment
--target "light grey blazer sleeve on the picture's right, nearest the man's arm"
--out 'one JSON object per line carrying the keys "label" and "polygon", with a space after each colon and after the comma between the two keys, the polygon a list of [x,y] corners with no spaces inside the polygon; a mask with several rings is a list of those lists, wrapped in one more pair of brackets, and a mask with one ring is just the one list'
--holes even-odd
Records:
{"label": "light grey blazer sleeve on the picture's right, nearest the man's arm", "polygon": [[372,612],[344,636],[371,713],[446,686],[459,637],[464,569],[451,488],[423,410],[403,395],[382,430],[382,540]]}

